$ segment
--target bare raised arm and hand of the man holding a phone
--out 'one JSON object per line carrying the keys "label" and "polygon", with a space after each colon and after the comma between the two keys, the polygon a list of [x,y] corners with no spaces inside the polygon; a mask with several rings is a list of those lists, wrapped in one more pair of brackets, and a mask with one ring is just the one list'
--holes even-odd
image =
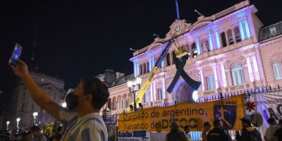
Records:
{"label": "bare raised arm and hand of the man holding a phone", "polygon": [[25,62],[18,61],[18,65],[16,67],[11,66],[11,68],[13,72],[23,80],[23,83],[30,92],[30,96],[32,97],[33,101],[35,101],[42,109],[46,110],[51,116],[56,118],[56,120],[60,120],[60,105],[54,102],[49,95],[35,83],[28,72]]}

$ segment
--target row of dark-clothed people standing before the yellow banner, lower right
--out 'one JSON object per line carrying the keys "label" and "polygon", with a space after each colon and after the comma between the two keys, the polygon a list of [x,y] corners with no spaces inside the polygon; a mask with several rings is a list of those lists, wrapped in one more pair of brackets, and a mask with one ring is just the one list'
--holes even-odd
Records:
{"label": "row of dark-clothed people standing before the yellow banner, lower right", "polygon": [[[237,130],[235,133],[235,140],[238,141],[262,141],[262,136],[252,125],[249,118],[240,119],[243,129]],[[265,141],[282,141],[282,119],[279,124],[276,123],[274,118],[268,119],[269,128],[266,129],[264,134]],[[231,135],[227,130],[223,129],[223,121],[214,120],[214,128],[211,130],[212,124],[209,122],[204,123],[204,130],[202,131],[202,141],[231,141]],[[179,130],[179,125],[176,122],[171,123],[171,131],[165,137],[165,141],[191,141],[190,128],[188,125],[184,127],[184,131]]]}

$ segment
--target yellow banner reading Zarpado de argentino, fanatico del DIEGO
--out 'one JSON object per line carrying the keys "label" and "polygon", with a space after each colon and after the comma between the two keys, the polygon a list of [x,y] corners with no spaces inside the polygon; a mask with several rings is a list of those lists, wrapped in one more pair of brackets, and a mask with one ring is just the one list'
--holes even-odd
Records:
{"label": "yellow banner reading Zarpado de argentino, fanatico del DIEGO", "polygon": [[169,131],[171,122],[176,121],[183,130],[202,130],[203,123],[214,119],[223,120],[227,129],[240,130],[240,118],[245,116],[244,94],[213,102],[176,104],[166,107],[141,109],[130,114],[118,115],[118,131]]}

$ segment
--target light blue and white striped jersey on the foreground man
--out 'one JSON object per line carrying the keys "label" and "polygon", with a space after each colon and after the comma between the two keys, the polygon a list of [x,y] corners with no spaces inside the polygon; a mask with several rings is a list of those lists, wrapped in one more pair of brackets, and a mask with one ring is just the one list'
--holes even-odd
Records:
{"label": "light blue and white striped jersey on the foreground man", "polygon": [[76,140],[108,140],[106,125],[99,113],[91,113],[78,117],[76,113],[61,107],[59,116],[63,126],[66,127],[62,141]]}

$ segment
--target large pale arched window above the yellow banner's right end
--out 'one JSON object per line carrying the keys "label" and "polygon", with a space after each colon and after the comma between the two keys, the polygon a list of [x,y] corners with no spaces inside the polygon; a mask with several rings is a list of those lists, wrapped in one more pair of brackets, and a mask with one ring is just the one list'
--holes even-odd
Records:
{"label": "large pale arched window above the yellow banner's right end", "polygon": [[231,67],[233,85],[242,85],[245,83],[243,67],[240,63],[235,63]]}

